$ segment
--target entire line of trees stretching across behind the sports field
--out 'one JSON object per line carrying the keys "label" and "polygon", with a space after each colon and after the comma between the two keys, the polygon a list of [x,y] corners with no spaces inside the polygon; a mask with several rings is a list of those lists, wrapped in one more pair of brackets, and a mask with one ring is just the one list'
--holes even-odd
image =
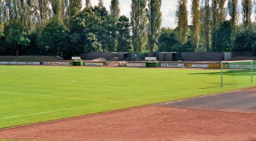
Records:
{"label": "entire line of trees stretching across behind the sports field", "polygon": [[[211,3],[211,5],[210,5]],[[99,0],[0,0],[0,55],[60,55],[82,52],[227,52],[256,49],[252,0],[178,0],[177,27],[161,28],[161,0],[131,0],[131,19]],[[226,20],[227,14],[230,20]]]}

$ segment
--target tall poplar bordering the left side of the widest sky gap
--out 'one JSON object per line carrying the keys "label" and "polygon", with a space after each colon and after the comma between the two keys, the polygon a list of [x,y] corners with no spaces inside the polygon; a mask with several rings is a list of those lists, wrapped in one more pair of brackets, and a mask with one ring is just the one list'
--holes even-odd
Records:
{"label": "tall poplar bordering the left side of the widest sky gap", "polygon": [[157,37],[162,21],[161,5],[162,0],[148,0],[148,49],[150,52],[154,51],[156,45],[159,48]]}

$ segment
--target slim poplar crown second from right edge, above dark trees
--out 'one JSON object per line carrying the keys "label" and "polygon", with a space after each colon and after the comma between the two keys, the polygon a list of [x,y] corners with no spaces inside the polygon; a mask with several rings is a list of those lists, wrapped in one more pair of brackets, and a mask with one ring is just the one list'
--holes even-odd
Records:
{"label": "slim poplar crown second from right edge, above dark trees", "polygon": [[239,18],[238,0],[228,0],[227,10],[231,17],[231,24],[233,28],[236,28],[236,24]]}

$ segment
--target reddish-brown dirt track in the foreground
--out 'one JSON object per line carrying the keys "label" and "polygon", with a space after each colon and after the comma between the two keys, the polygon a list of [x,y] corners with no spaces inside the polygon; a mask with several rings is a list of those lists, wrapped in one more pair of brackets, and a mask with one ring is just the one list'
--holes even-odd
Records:
{"label": "reddish-brown dirt track in the foreground", "polygon": [[142,106],[0,131],[0,138],[88,141],[256,141],[256,115]]}

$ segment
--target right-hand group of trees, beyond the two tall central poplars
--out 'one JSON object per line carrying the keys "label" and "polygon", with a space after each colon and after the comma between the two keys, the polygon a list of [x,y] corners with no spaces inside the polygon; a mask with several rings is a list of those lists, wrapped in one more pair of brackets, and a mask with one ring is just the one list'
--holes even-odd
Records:
{"label": "right-hand group of trees, beyond the two tall central poplars", "polygon": [[178,0],[177,28],[162,29],[159,50],[253,51],[256,48],[256,23],[251,20],[253,4],[256,2],[252,0],[241,0],[241,3],[238,0],[192,0],[192,25],[188,26],[187,0]]}

